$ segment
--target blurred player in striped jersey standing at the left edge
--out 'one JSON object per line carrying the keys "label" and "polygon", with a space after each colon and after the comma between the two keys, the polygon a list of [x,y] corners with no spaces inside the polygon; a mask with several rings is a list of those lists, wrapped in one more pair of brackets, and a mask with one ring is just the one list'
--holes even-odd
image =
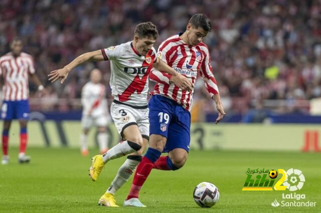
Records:
{"label": "blurred player in striped jersey standing at the left edge", "polygon": [[20,38],[15,38],[10,45],[11,52],[0,58],[0,75],[3,76],[3,103],[1,118],[4,120],[2,132],[2,164],[9,163],[8,142],[11,121],[18,119],[20,123],[20,149],[18,160],[20,163],[30,161],[30,156],[25,154],[28,134],[27,122],[29,119],[29,86],[28,76],[44,93],[44,86],[35,74],[34,59],[22,52],[23,44]]}

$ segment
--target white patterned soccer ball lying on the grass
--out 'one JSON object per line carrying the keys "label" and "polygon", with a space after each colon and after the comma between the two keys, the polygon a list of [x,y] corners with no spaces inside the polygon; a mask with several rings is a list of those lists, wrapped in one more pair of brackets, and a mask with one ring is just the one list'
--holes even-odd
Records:
{"label": "white patterned soccer ball lying on the grass", "polygon": [[219,189],[209,182],[201,182],[193,192],[195,202],[201,207],[212,207],[219,200]]}

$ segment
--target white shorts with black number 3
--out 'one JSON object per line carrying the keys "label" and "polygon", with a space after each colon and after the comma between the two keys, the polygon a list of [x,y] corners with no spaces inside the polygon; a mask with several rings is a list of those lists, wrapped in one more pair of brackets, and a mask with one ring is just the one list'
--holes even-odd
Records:
{"label": "white shorts with black number 3", "polygon": [[127,105],[112,103],[110,114],[116,129],[123,138],[123,131],[131,125],[137,125],[143,138],[149,138],[148,108],[135,109]]}

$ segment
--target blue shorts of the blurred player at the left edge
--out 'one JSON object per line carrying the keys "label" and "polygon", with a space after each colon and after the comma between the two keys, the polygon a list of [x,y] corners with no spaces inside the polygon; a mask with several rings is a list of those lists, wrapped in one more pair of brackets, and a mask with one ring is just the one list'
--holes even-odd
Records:
{"label": "blue shorts of the blurred player at the left edge", "polygon": [[4,120],[29,120],[29,101],[4,101],[1,107],[1,118]]}

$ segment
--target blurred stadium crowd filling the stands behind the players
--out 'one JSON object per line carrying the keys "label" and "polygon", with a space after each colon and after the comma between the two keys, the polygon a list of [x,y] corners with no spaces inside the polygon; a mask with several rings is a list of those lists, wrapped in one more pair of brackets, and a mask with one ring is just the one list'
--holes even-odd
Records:
{"label": "blurred stadium crowd filling the stands behind the players", "polygon": [[[103,71],[110,91],[109,62],[77,67],[64,85],[50,84],[50,71],[82,53],[131,40],[139,22],[157,26],[157,48],[169,36],[183,32],[196,13],[206,14],[212,22],[204,42],[226,112],[246,113],[265,99],[297,103],[321,97],[320,0],[3,0],[0,55],[9,52],[15,36],[21,37],[47,87],[42,99],[46,109],[69,110],[75,106],[68,100],[80,97],[94,67]],[[31,97],[37,96],[35,91],[31,85]],[[58,106],[58,98],[66,98],[65,104]],[[194,100],[198,111],[215,109],[201,78]],[[295,104],[278,109],[293,110]]]}

